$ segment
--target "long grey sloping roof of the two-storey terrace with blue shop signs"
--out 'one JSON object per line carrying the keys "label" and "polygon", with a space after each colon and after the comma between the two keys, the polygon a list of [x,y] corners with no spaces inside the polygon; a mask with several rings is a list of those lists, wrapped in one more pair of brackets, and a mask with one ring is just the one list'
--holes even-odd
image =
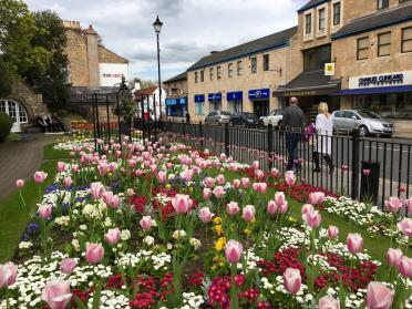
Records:
{"label": "long grey sloping roof of the two-storey terrace with blue shop signs", "polygon": [[298,27],[289,28],[284,31],[224,50],[220,52],[212,53],[202,58],[193,64],[187,71],[196,70],[199,68],[222,63],[236,58],[241,58],[253,53],[261,52],[265,50],[284,48],[289,44],[289,39],[298,32]]}

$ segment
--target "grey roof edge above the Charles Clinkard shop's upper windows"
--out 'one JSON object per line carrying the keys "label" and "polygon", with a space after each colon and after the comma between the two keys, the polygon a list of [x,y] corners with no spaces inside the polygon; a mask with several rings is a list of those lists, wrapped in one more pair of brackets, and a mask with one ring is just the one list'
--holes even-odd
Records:
{"label": "grey roof edge above the Charles Clinkard shop's upper windows", "polygon": [[332,35],[332,40],[356,35],[362,32],[393,25],[412,20],[412,3],[352,20]]}

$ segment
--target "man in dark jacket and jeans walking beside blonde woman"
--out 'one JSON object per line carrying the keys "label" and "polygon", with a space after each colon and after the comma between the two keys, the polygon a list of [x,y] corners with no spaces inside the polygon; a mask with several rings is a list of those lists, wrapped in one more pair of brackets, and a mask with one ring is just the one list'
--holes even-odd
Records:
{"label": "man in dark jacket and jeans walking beside blonde woman", "polygon": [[288,165],[287,171],[296,172],[301,171],[301,164],[298,158],[298,144],[302,137],[305,126],[303,111],[298,106],[299,101],[297,97],[290,97],[289,106],[285,109],[282,116],[282,128],[285,131],[286,147],[288,151]]}

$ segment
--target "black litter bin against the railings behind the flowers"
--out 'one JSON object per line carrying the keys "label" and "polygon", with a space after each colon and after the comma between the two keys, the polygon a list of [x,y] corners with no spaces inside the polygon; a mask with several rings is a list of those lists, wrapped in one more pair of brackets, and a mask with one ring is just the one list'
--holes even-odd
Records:
{"label": "black litter bin against the railings behind the flowers", "polygon": [[[379,193],[379,172],[381,168],[380,162],[362,161],[361,169],[361,200],[371,200],[373,205],[378,203]],[[365,175],[364,171],[369,171]]]}

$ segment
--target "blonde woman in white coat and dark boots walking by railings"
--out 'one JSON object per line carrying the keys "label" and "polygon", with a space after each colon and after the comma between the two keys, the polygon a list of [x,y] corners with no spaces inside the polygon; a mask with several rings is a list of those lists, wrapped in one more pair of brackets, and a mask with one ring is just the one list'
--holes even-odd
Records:
{"label": "blonde woman in white coat and dark boots walking by railings", "polygon": [[333,173],[332,153],[332,134],[333,119],[329,114],[328,104],[321,102],[318,106],[318,115],[316,116],[317,145],[313,148],[315,173],[320,172],[319,161],[320,155],[325,158],[329,166],[329,173]]}

